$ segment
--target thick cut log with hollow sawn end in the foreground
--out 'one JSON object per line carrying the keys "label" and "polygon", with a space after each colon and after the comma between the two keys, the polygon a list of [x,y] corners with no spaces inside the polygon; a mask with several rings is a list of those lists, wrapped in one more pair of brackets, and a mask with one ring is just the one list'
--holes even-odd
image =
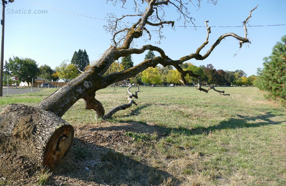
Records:
{"label": "thick cut log with hollow sawn end in the foreground", "polygon": [[0,153],[51,167],[67,154],[73,139],[74,128],[51,112],[10,104],[0,113]]}

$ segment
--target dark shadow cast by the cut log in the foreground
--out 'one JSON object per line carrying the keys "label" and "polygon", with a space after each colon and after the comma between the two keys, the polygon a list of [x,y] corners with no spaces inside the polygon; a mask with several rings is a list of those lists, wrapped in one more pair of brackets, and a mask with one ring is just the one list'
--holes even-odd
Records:
{"label": "dark shadow cast by the cut log in the foreground", "polygon": [[168,172],[140,163],[111,148],[87,143],[79,138],[74,138],[70,152],[57,169],[53,170],[53,175],[55,178],[51,178],[47,184],[58,182],[59,177],[63,180],[68,177],[88,181],[88,185],[160,185],[164,183],[164,179],[176,180]]}

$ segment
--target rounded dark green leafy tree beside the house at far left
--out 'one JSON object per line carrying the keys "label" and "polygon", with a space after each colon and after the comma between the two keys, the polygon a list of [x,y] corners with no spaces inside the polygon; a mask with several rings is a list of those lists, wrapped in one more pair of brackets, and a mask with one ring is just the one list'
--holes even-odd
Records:
{"label": "rounded dark green leafy tree beside the house at far left", "polygon": [[30,58],[19,58],[18,56],[13,56],[13,59],[9,58],[7,67],[14,76],[18,77],[19,81],[26,81],[28,87],[33,78],[37,78],[39,71],[38,64],[35,60]]}

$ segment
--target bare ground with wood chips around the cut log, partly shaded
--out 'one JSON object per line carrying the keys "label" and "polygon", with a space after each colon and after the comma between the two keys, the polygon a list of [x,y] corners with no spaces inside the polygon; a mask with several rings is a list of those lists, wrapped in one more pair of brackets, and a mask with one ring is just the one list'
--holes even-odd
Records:
{"label": "bare ground with wood chips around the cut log, partly shaded", "polygon": [[[70,152],[49,172],[46,185],[176,185],[170,173],[132,154],[142,151],[126,132],[151,135],[155,126],[138,122],[79,124]],[[47,168],[17,157],[0,155],[0,185],[39,185]]]}

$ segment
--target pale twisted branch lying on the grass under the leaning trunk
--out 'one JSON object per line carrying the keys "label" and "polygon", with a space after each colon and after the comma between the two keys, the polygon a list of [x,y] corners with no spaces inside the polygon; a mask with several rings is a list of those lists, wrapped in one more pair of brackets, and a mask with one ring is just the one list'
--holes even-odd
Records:
{"label": "pale twisted branch lying on the grass under the leaning trunk", "polygon": [[132,106],[132,104],[136,105],[136,102],[134,100],[132,100],[132,98],[136,98],[138,99],[138,96],[137,96],[137,93],[140,92],[139,90],[139,87],[138,87],[138,90],[136,90],[135,94],[133,94],[132,92],[130,92],[130,88],[131,86],[129,86],[127,88],[127,92],[129,94],[129,96],[126,97],[126,99],[129,101],[127,104],[122,104],[122,105],[119,105],[119,106],[116,106],[114,108],[112,108],[110,111],[108,111],[104,116],[103,116],[103,119],[106,119],[106,118],[110,118],[113,114],[115,114],[117,111],[119,110],[125,110],[126,108],[129,108]]}

